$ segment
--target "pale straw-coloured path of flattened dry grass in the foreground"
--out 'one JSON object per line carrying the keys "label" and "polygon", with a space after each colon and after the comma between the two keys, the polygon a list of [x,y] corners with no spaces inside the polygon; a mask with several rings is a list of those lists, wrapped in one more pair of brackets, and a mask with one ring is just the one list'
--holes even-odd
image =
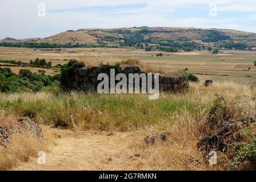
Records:
{"label": "pale straw-coloured path of flattened dry grass in the foreground", "polygon": [[[63,130],[57,145],[46,153],[46,165],[38,165],[30,158],[13,170],[103,170],[125,169],[120,156],[127,147],[123,133],[95,134]],[[118,165],[119,164],[119,165]]]}

